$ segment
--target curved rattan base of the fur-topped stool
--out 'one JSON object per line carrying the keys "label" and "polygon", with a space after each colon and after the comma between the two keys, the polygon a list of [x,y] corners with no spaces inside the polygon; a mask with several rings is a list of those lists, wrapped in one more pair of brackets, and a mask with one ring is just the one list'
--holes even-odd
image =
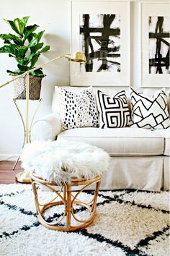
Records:
{"label": "curved rattan base of the fur-topped stool", "polygon": [[[47,182],[40,177],[37,177],[35,174],[30,174],[30,178],[32,181],[32,189],[35,195],[35,207],[37,210],[37,219],[38,221],[45,226],[48,229],[58,230],[58,231],[75,231],[79,229],[84,229],[86,226],[89,226],[93,221],[95,217],[95,212],[97,208],[97,195],[99,192],[99,186],[101,183],[101,176],[97,176],[94,179],[73,179],[71,184],[57,184],[55,182]],[[49,202],[46,202],[44,204],[40,204],[38,200],[37,195],[37,184],[42,184],[45,187],[48,187],[51,191],[55,192],[56,196],[53,198],[53,200],[50,200]],[[87,187],[90,187],[91,184],[96,184],[96,189],[94,191],[94,196],[89,202],[82,202],[79,200],[78,196],[80,193],[87,189]],[[78,192],[76,192],[76,195],[72,195],[72,186],[81,186],[82,187]],[[61,189],[58,192],[56,189],[54,189],[51,186],[60,186]],[[63,191],[63,195],[61,195],[61,192]],[[60,197],[61,200],[54,201],[57,197]],[[85,207],[86,209],[91,212],[91,216],[87,220],[80,220],[76,218],[75,214],[73,213],[73,204],[81,205]],[[64,205],[64,213],[63,216],[58,221],[55,221],[53,223],[48,223],[43,218],[43,213],[48,208],[51,208],[55,205]],[[74,220],[76,220],[78,223],[80,223],[77,226],[71,226],[71,216]],[[66,225],[61,226],[60,223],[63,220],[63,218],[66,217]]]}

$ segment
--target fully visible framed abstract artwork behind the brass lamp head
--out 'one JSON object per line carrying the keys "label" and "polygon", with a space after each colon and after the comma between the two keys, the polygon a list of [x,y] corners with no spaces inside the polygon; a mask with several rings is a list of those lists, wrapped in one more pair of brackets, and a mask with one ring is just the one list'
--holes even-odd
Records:
{"label": "fully visible framed abstract artwork behind the brass lamp head", "polygon": [[71,1],[71,85],[130,85],[130,1]]}

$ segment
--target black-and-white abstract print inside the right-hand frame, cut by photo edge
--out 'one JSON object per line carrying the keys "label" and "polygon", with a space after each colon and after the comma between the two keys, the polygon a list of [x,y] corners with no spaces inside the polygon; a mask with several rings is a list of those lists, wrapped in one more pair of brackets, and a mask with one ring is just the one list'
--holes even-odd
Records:
{"label": "black-and-white abstract print inside the right-hand frame, cut by photo edge", "polygon": [[170,17],[149,16],[149,74],[170,74]]}

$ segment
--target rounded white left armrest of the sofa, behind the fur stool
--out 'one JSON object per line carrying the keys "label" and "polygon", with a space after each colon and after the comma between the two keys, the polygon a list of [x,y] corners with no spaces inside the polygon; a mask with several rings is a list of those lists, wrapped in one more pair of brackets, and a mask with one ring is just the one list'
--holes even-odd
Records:
{"label": "rounded white left armrest of the sofa, behind the fur stool", "polygon": [[61,132],[61,115],[51,113],[35,121],[32,127],[33,140],[55,140]]}

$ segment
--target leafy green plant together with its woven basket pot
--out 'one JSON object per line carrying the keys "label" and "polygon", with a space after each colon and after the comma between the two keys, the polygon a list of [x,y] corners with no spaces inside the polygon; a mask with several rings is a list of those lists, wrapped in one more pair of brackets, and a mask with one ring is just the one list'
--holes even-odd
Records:
{"label": "leafy green plant together with its woven basket pot", "polygon": [[[14,58],[17,61],[17,70],[6,70],[10,75],[19,75],[24,72],[35,68],[35,64],[45,51],[50,49],[50,46],[44,46],[41,43],[45,30],[35,33],[38,25],[27,25],[29,16],[22,19],[4,20],[15,34],[0,34],[0,38],[4,40],[4,46],[0,48],[0,53],[9,54],[9,57]],[[42,68],[37,69],[29,74],[30,80],[30,99],[37,100],[40,98],[41,80],[45,77],[42,72]],[[26,77],[19,77],[14,80],[14,98],[25,99],[26,98]]]}

